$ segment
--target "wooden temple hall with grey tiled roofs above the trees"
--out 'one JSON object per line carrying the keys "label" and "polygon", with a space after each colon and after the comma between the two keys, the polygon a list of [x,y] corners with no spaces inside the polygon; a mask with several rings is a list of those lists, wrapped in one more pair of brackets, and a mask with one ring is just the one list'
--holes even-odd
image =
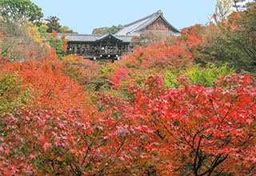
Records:
{"label": "wooden temple hall with grey tiled roofs above the trees", "polygon": [[[68,46],[66,54],[78,54],[87,59],[119,60],[122,53],[134,50],[134,36],[140,34],[178,35],[175,29],[163,17],[162,11],[123,26],[116,34],[66,34]],[[58,34],[61,38],[62,34]]]}

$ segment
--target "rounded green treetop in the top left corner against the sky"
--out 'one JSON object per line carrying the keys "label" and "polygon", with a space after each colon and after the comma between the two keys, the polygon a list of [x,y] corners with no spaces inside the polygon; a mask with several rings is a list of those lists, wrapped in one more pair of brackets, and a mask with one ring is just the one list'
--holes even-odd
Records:
{"label": "rounded green treetop in the top left corner against the sky", "polygon": [[0,13],[6,22],[40,20],[42,9],[30,0],[0,0]]}

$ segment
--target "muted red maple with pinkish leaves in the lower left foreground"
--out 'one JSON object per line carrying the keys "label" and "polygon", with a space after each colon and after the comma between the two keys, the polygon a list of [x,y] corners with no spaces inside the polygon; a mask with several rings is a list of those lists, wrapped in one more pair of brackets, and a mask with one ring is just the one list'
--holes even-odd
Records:
{"label": "muted red maple with pinkish leaves in the lower left foreground", "polygon": [[132,132],[124,118],[111,116],[112,110],[97,116],[93,112],[87,106],[2,116],[0,173],[98,175],[125,170]]}

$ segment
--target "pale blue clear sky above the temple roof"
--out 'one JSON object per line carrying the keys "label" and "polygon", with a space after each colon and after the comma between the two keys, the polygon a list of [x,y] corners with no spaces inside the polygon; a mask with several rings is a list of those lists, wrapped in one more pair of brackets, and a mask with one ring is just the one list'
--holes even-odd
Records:
{"label": "pale blue clear sky above the temple roof", "polygon": [[94,28],[126,25],[162,10],[177,29],[206,24],[214,13],[216,0],[31,0],[45,15],[57,16],[62,26],[79,34],[91,34]]}

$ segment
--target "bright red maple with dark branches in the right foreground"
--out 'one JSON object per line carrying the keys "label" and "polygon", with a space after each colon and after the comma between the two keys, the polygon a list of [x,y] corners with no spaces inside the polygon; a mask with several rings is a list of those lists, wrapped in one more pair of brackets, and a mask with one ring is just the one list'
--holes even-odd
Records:
{"label": "bright red maple with dark branches in the right foreground", "polygon": [[[253,175],[255,85],[249,75],[221,78],[216,88],[164,88],[150,76],[134,92],[133,116],[154,130],[149,154],[161,175]],[[150,157],[150,156],[149,156]]]}

